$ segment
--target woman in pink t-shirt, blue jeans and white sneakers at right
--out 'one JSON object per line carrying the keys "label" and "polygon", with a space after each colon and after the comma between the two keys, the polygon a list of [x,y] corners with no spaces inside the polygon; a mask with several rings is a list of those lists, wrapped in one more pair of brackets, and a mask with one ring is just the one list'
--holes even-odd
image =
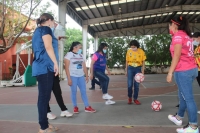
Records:
{"label": "woman in pink t-shirt, blue jeans and white sneakers at right", "polygon": [[176,115],[168,118],[176,125],[182,125],[182,118],[187,109],[189,124],[178,128],[178,133],[199,133],[197,126],[197,106],[193,96],[192,82],[198,75],[197,65],[193,54],[193,44],[190,38],[189,23],[184,17],[171,19],[169,23],[172,42],[170,52],[172,56],[171,66],[167,75],[167,82],[172,81],[172,75],[178,86],[179,110]]}

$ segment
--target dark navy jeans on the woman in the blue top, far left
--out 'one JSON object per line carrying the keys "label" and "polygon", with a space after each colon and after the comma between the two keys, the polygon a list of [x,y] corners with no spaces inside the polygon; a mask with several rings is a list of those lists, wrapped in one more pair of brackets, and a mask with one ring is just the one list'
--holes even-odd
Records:
{"label": "dark navy jeans on the woman in the blue top, far left", "polygon": [[51,98],[51,91],[54,81],[54,72],[48,72],[37,76],[38,81],[38,114],[39,124],[42,130],[49,127],[47,119],[47,107]]}

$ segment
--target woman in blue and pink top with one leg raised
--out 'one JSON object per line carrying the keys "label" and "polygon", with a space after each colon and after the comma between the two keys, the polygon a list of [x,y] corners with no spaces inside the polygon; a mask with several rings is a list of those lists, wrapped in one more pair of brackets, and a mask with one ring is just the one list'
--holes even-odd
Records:
{"label": "woman in blue and pink top with one leg raised", "polygon": [[107,70],[108,74],[110,74],[110,70],[106,65],[107,48],[108,45],[106,43],[101,43],[97,52],[95,52],[92,56],[92,61],[90,64],[90,80],[92,80],[94,77],[99,79],[103,92],[102,98],[107,100],[105,102],[106,105],[111,105],[115,104],[115,101],[111,101],[113,96],[108,94],[109,77],[105,74],[105,70]]}

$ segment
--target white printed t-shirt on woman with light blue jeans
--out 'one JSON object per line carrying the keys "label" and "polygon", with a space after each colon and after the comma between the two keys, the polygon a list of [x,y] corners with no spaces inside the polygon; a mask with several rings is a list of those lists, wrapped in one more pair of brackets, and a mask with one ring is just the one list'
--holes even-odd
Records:
{"label": "white printed t-shirt on woman with light blue jeans", "polygon": [[70,76],[74,77],[84,76],[84,71],[83,71],[84,59],[82,54],[75,54],[73,52],[68,52],[65,55],[65,59],[68,59],[70,61],[69,65]]}

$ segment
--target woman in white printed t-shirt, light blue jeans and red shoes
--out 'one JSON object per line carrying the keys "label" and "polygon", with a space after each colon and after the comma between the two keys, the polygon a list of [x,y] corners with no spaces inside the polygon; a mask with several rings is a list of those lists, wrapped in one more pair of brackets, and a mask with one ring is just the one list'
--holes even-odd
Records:
{"label": "woman in white printed t-shirt, light blue jeans and red shoes", "polygon": [[[81,97],[85,105],[85,112],[95,113],[89,103],[86,94],[86,82],[88,82],[88,72],[81,53],[80,42],[73,42],[69,52],[65,55],[65,71],[67,74],[68,85],[71,88],[71,99],[74,106],[74,113],[79,113],[76,101],[77,87],[81,92]],[[85,77],[84,77],[85,75]]]}

